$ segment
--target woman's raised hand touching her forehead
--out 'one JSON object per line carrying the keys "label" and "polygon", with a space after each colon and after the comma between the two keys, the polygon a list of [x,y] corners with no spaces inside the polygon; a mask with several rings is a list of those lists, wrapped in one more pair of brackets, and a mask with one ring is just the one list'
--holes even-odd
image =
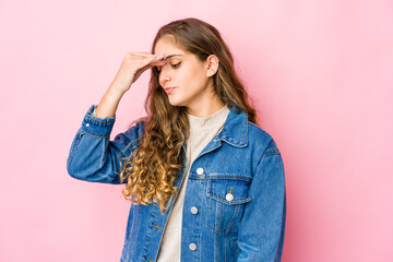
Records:
{"label": "woman's raised hand touching her forehead", "polygon": [[111,84],[111,88],[122,94],[126,93],[144,71],[154,66],[164,66],[166,63],[163,60],[164,55],[127,52]]}

